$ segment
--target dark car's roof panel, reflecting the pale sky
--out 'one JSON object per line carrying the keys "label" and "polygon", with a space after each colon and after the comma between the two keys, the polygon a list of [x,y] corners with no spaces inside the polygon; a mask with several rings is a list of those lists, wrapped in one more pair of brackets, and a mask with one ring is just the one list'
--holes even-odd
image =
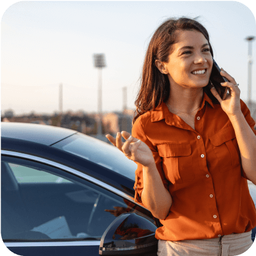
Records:
{"label": "dark car's roof panel, reflecting the pale sky", "polygon": [[1,122],[1,137],[28,140],[48,146],[75,133],[75,130],[43,124]]}

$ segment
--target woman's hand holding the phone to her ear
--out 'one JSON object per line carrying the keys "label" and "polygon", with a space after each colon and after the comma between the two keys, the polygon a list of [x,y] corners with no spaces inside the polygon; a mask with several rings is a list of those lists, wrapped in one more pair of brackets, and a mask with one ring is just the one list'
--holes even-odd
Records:
{"label": "woman's hand holding the phone to her ear", "polygon": [[228,87],[228,94],[225,100],[222,100],[218,92],[215,88],[211,88],[211,93],[215,96],[215,98],[220,102],[221,108],[228,116],[236,116],[236,114],[241,112],[240,105],[240,89],[236,85],[236,81],[231,75],[221,69],[221,75],[226,77],[229,82],[221,83],[223,87]]}

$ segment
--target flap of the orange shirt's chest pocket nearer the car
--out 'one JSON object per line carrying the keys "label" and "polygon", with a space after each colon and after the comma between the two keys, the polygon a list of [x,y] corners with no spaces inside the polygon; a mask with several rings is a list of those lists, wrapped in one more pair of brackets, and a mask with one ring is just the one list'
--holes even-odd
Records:
{"label": "flap of the orange shirt's chest pocket nearer the car", "polygon": [[157,148],[161,157],[191,155],[190,144],[160,144]]}

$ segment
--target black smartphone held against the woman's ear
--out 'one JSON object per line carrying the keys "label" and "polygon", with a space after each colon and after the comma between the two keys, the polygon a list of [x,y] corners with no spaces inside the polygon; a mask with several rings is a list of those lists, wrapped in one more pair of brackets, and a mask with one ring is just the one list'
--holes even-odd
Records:
{"label": "black smartphone held against the woman's ear", "polygon": [[220,74],[220,72],[221,72],[220,67],[218,66],[216,61],[213,59],[213,68],[211,69],[210,82],[216,88],[221,98],[224,100],[228,93],[228,87],[223,87],[220,83],[229,82],[229,80],[226,79],[226,77],[223,77]]}

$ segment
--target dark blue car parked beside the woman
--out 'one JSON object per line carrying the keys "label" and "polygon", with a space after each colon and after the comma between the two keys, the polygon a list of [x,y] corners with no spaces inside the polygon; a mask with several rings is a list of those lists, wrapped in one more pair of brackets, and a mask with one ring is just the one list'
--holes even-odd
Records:
{"label": "dark blue car parked beside the woman", "polygon": [[136,168],[80,132],[1,122],[2,241],[17,255],[156,255],[161,223],[134,202]]}

